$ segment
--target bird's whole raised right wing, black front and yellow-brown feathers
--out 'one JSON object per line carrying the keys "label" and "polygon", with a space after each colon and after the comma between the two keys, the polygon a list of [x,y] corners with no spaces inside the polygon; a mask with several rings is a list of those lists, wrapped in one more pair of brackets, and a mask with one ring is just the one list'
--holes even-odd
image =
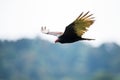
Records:
{"label": "bird's whole raised right wing, black front and yellow-brown feathers", "polygon": [[89,11],[85,14],[82,12],[74,22],[66,27],[63,36],[81,37],[94,22],[94,17],[91,17],[93,14],[88,15],[88,13]]}

